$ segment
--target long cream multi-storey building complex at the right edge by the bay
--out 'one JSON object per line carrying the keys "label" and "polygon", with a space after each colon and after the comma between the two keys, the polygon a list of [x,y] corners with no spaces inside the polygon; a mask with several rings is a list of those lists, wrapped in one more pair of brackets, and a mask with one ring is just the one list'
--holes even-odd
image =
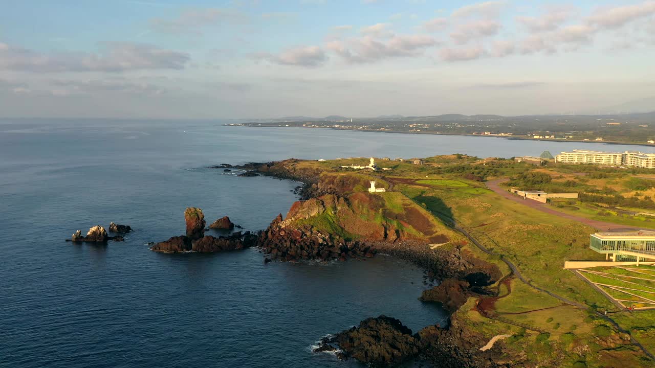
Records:
{"label": "long cream multi-storey building complex at the right edge by the bay", "polygon": [[628,165],[638,168],[655,168],[655,153],[601,152],[574,149],[555,156],[555,162],[567,164]]}

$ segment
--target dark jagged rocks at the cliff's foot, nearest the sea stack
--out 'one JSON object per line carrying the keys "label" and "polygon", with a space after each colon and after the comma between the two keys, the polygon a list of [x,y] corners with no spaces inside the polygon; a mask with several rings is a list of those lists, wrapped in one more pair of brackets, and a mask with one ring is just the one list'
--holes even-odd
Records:
{"label": "dark jagged rocks at the cliff's foot, nearest the sea stack", "polygon": [[329,261],[348,258],[373,257],[375,246],[367,242],[345,241],[339,236],[324,234],[309,225],[281,227],[282,215],[274,219],[259,236],[259,246],[271,259],[280,261]]}

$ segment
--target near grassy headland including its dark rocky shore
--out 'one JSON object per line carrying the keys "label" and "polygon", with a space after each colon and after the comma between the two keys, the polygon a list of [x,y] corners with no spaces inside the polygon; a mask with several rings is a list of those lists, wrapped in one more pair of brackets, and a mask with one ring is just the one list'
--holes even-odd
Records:
{"label": "near grassy headland including its dark rocky shore", "polygon": [[[565,262],[606,261],[589,248],[590,234],[601,226],[652,229],[655,218],[629,213],[650,207],[643,193],[655,177],[639,169],[544,165],[447,155],[289,159],[233,170],[304,183],[302,199],[259,232],[256,244],[267,261],[393,255],[436,282],[417,299],[452,312],[448,325],[420,331],[393,316],[371,316],[332,331],[317,354],[335,352],[373,366],[412,360],[438,367],[654,366],[655,310],[621,308]],[[542,189],[579,195],[544,200],[544,207],[525,202],[530,191]],[[517,199],[515,191],[528,194]],[[613,210],[627,205],[633,207],[624,213]],[[610,214],[594,214],[595,208]],[[639,282],[646,299],[646,288],[655,288],[647,282]]]}

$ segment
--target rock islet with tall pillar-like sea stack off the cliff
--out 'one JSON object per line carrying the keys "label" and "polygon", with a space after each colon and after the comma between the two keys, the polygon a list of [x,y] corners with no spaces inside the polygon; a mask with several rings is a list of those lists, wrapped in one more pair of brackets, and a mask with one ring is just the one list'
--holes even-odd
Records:
{"label": "rock islet with tall pillar-like sea stack off the cliff", "polygon": [[[213,253],[217,251],[250,248],[257,245],[257,234],[252,234],[249,231],[243,234],[241,232],[235,232],[229,236],[219,236],[217,238],[205,235],[206,221],[204,219],[204,213],[202,213],[200,208],[187,208],[184,212],[184,220],[187,227],[185,235],[173,236],[164,242],[152,244],[150,249],[162,253],[183,253],[187,251]],[[215,223],[224,226],[220,229],[234,229],[234,224],[230,221],[229,217],[223,217],[223,219],[219,219]]]}

